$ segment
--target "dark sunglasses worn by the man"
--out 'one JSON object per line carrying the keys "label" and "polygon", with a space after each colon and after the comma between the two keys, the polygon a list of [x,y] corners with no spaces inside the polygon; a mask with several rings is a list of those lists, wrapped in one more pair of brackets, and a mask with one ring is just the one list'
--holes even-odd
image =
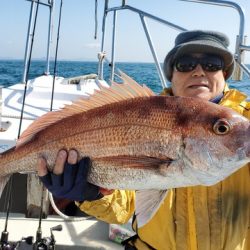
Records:
{"label": "dark sunglasses worn by the man", "polygon": [[216,55],[205,55],[203,57],[192,57],[184,55],[175,60],[175,69],[179,72],[190,72],[200,64],[202,69],[208,72],[215,72],[224,68],[224,61]]}

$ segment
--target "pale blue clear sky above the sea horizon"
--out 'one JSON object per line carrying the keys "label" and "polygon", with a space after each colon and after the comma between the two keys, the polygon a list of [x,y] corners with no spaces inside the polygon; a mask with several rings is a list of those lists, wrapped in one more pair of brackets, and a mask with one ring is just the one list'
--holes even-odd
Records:
{"label": "pale blue clear sky above the sea horizon", "polygon": [[[40,0],[41,1],[41,0]],[[43,0],[45,1],[45,0]],[[120,4],[121,0],[110,0],[110,6]],[[236,0],[245,12],[246,45],[250,44],[250,4],[249,0]],[[55,17],[51,56],[55,55],[58,12],[61,0],[55,0]],[[97,59],[100,51],[101,27],[104,0],[98,0],[98,33],[95,33],[95,0],[63,0],[62,20],[58,59],[84,60]],[[239,14],[234,8],[185,2],[181,0],[127,0],[126,3],[145,12],[157,15],[187,30],[206,29],[224,32],[230,39],[229,49],[235,50],[236,36],[239,32]],[[27,27],[30,13],[30,1],[0,1],[0,59],[23,59]],[[36,37],[32,57],[46,57],[48,8],[40,6],[37,19]],[[111,13],[107,16],[105,51],[111,58],[112,41]],[[156,54],[160,62],[173,47],[179,31],[146,19]],[[117,14],[116,61],[152,62],[153,57],[143,32],[139,15],[129,11]],[[250,52],[246,52],[245,61],[250,62]]]}

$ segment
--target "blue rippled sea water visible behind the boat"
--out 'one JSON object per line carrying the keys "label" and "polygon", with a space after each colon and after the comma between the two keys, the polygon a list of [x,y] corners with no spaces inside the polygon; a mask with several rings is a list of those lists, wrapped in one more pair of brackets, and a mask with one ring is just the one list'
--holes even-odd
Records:
{"label": "blue rippled sea water visible behind the boat", "polygon": [[[248,65],[250,67],[250,65]],[[29,72],[29,79],[40,76],[45,71],[44,61],[32,61]],[[156,93],[162,90],[161,82],[157,74],[157,69],[153,63],[116,63],[116,68],[128,74],[139,83],[144,83]],[[97,73],[97,62],[80,61],[58,61],[56,75],[67,77]],[[109,79],[110,69],[108,65],[104,68],[104,78]],[[51,64],[51,74],[53,74],[53,64]],[[22,80],[23,61],[22,60],[0,60],[0,85],[10,86]],[[229,80],[230,87],[239,89],[250,96],[250,79],[244,75],[243,80]]]}

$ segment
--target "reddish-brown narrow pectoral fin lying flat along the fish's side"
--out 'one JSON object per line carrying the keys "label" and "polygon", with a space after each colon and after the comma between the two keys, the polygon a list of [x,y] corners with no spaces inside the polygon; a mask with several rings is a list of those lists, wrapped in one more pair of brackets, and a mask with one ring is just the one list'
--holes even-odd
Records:
{"label": "reddish-brown narrow pectoral fin lying flat along the fish's side", "polygon": [[110,164],[124,167],[161,167],[162,165],[170,165],[173,160],[170,158],[156,158],[149,156],[130,156],[130,155],[119,155],[119,156],[107,156],[95,158],[95,161],[102,162],[103,164]]}

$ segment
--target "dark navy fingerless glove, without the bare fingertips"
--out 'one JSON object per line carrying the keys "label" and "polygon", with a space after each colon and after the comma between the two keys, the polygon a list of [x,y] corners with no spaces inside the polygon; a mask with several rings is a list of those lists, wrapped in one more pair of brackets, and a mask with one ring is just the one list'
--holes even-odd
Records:
{"label": "dark navy fingerless glove, without the bare fingertips", "polygon": [[48,172],[39,178],[55,197],[80,202],[98,200],[103,197],[100,188],[87,182],[90,166],[90,158],[84,157],[74,165],[65,163],[60,175]]}

